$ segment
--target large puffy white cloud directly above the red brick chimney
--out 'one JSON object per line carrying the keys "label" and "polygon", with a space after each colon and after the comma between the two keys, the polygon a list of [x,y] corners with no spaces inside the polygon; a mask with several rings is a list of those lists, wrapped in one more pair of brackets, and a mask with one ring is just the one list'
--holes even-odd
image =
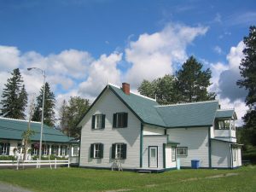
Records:
{"label": "large puffy white cloud directly above the red brick chimney", "polygon": [[140,35],[125,49],[125,59],[131,63],[126,73],[127,81],[138,86],[143,79],[152,80],[173,73],[175,65],[186,60],[187,46],[206,32],[204,26],[170,24],[160,32]]}

